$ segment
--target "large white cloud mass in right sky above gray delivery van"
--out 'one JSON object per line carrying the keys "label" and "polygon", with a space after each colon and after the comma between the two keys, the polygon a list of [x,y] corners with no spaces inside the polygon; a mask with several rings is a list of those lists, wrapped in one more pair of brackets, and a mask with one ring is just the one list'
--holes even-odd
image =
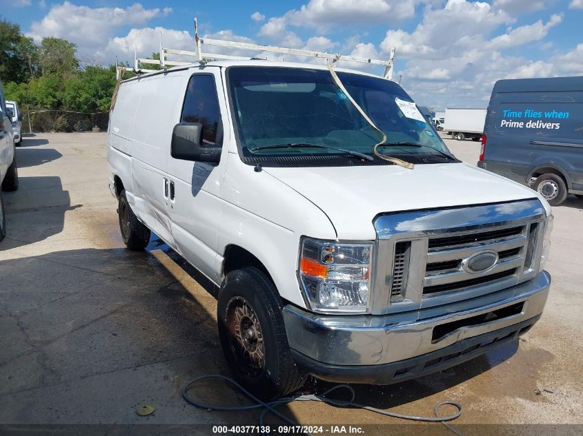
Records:
{"label": "large white cloud mass in right sky above gray delivery van", "polygon": [[395,76],[402,74],[402,85],[420,104],[439,109],[485,107],[499,79],[576,74],[577,68],[582,71],[583,61],[577,56],[583,56],[583,44],[561,59],[549,56],[540,61],[534,58],[537,51],[528,50],[522,50],[522,56],[506,54],[505,50],[535,41],[548,48],[544,39],[562,22],[562,14],[554,14],[546,22],[501,32],[500,28],[515,23],[520,4],[530,5],[531,10],[542,8],[530,0],[501,0],[492,5],[449,0],[445,6],[427,6],[411,32],[398,28],[386,32],[380,44],[382,56],[396,46],[399,71]]}

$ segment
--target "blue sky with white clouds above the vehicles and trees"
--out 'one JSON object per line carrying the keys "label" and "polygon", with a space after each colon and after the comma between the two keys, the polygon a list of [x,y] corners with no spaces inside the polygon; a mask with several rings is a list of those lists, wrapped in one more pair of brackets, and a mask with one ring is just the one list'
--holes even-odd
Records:
{"label": "blue sky with white clouds above the vehicles and trees", "polygon": [[77,44],[86,64],[132,65],[135,46],[159,51],[160,32],[164,47],[194,50],[194,17],[201,37],[375,59],[394,46],[393,79],[435,110],[486,107],[500,79],[583,75],[583,0],[0,0],[0,16],[37,43]]}

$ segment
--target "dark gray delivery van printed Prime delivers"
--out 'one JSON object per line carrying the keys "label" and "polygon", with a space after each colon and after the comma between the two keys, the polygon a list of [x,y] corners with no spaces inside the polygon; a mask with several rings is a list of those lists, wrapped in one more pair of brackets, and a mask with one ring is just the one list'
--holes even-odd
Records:
{"label": "dark gray delivery van printed Prime delivers", "polygon": [[497,81],[477,165],[553,206],[583,198],[583,76]]}

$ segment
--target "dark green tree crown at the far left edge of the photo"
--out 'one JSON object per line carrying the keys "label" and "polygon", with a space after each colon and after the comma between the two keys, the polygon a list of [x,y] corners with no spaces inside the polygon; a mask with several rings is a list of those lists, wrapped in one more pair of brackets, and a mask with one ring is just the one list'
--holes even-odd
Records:
{"label": "dark green tree crown at the far left edge of the photo", "polygon": [[37,46],[18,24],[0,21],[0,76],[6,82],[26,82],[37,71]]}

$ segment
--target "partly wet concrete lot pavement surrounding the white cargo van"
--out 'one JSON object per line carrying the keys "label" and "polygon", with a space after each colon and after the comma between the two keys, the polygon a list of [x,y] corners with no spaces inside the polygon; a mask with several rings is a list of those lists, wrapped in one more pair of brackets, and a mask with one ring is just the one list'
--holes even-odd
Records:
{"label": "partly wet concrete lot pavement surrounding the white cargo van", "polygon": [[[123,249],[105,142],[105,134],[39,134],[17,149],[20,189],[3,193],[0,424],[257,424],[257,411],[211,412],[181,398],[192,377],[229,375],[217,336],[216,289],[157,238],[145,253]],[[479,143],[446,142],[475,164]],[[582,212],[574,196],[554,209],[551,295],[542,320],[520,341],[418,380],[353,385],[356,401],[433,415],[437,402],[453,399],[464,405],[455,421],[462,432],[464,424],[583,424]],[[306,391],[330,386],[310,381]],[[195,394],[213,404],[246,403],[216,382],[202,382]],[[140,417],[141,404],[155,413]],[[365,434],[403,424],[326,404],[281,411],[302,424],[366,424]],[[391,428],[448,434],[440,424]],[[557,434],[557,428],[582,429],[513,431]]]}

